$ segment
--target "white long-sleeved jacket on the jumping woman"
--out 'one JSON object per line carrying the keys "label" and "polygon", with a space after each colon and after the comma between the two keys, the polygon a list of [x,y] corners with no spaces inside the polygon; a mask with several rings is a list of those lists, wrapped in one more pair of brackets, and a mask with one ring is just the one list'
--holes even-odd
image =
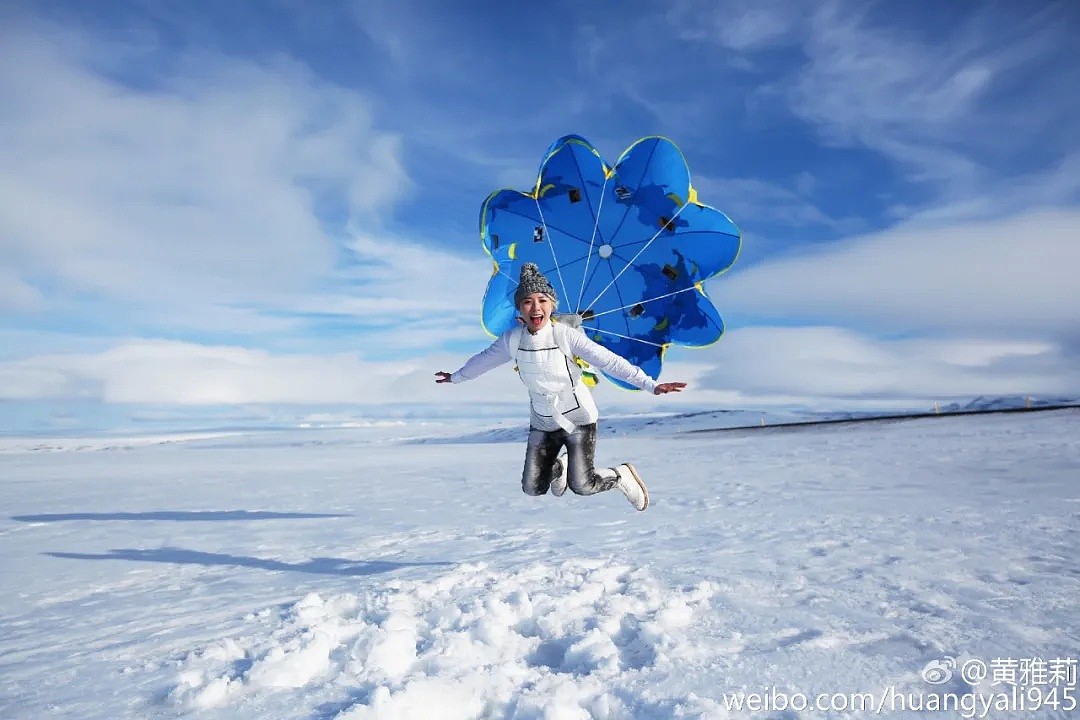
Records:
{"label": "white long-sleeved jacket on the jumping woman", "polygon": [[549,322],[536,335],[522,331],[518,348],[511,349],[515,335],[515,329],[503,332],[453,373],[450,382],[473,380],[516,357],[522,382],[529,391],[530,425],[536,430],[562,427],[571,432],[576,425],[596,422],[599,416],[589,386],[581,382],[581,369],[559,348],[559,339],[563,347],[593,367],[648,393],[657,389],[657,381],[644,370],[593,342],[579,328]]}

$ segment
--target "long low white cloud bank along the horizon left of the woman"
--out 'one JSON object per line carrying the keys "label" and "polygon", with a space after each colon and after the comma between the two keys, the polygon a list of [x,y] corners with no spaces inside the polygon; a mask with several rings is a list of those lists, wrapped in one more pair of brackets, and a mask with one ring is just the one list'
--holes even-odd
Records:
{"label": "long low white cloud bank along the horizon left of the woman", "polygon": [[0,399],[397,406],[491,404],[516,398],[527,408],[510,365],[470,383],[435,384],[436,370],[456,370],[463,359],[441,354],[378,362],[354,353],[284,355],[229,345],[130,340],[103,352],[0,363]]}

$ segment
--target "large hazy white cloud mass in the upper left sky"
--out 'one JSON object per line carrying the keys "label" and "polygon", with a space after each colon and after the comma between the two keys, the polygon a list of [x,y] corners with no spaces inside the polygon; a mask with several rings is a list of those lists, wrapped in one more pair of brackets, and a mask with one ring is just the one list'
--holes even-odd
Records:
{"label": "large hazy white cloud mass in the upper left sky", "polygon": [[91,69],[95,52],[121,51],[32,27],[0,57],[0,130],[17,138],[0,149],[0,273],[49,302],[178,320],[271,301],[333,269],[318,203],[370,219],[407,191],[399,138],[297,63],[191,51],[135,89]]}

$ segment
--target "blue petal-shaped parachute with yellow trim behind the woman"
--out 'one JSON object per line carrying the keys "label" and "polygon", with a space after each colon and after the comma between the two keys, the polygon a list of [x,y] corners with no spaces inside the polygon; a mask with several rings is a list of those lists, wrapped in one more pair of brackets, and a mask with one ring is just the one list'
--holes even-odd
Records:
{"label": "blue petal-shaped parachute with yellow trim behind the woman", "polygon": [[698,202],[686,160],[666,138],[642,138],[609,167],[583,137],[562,137],[531,192],[492,192],[480,223],[495,261],[483,307],[492,336],[517,322],[525,262],[555,287],[558,313],[578,315],[590,338],[653,379],[670,345],[700,348],[724,332],[703,283],[735,261],[741,234]]}

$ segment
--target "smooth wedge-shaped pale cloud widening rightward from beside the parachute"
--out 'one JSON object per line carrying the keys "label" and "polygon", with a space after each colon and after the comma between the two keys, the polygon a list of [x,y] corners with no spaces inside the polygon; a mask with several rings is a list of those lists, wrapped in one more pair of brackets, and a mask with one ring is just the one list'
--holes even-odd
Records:
{"label": "smooth wedge-shaped pale cloud widening rightward from beside the parachute", "polygon": [[1080,324],[1080,212],[955,227],[903,226],[713,281],[729,316],[1061,338]]}

